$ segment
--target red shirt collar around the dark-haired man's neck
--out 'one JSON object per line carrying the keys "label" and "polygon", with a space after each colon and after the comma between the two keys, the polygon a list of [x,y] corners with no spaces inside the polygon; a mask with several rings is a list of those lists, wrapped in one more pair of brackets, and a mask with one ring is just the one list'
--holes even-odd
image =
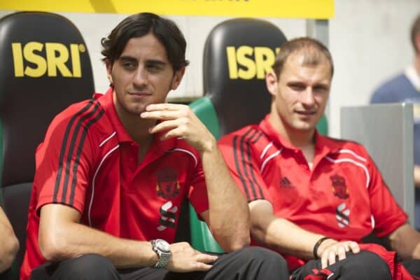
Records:
{"label": "red shirt collar around the dark-haired man's neck", "polygon": [[[137,144],[130,137],[130,134],[128,134],[127,130],[125,130],[123,123],[121,123],[121,120],[118,117],[116,107],[113,103],[113,87],[109,87],[109,89],[104,94],[101,94],[101,95],[102,96],[99,97],[99,102],[104,108],[106,116],[108,116],[109,120],[111,120],[111,123],[116,130],[116,137],[118,139],[118,142],[120,143],[130,142],[130,143]],[[165,141],[160,141],[159,138],[162,136],[163,133],[165,132],[156,134],[155,137],[153,137],[153,142],[151,144],[151,147],[160,146],[159,150],[162,150],[162,151],[172,150],[172,148],[175,148],[176,146],[177,139],[171,138]]]}

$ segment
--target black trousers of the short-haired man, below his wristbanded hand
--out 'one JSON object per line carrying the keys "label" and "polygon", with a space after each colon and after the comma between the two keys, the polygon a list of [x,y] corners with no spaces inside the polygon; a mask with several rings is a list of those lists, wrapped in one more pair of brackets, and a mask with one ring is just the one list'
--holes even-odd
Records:
{"label": "black trousers of the short-haired man, below his wristbanded hand", "polygon": [[[391,280],[391,272],[385,260],[370,251],[360,251],[358,254],[346,253],[346,258],[321,269],[321,260],[309,260],[305,265],[296,269],[292,280]],[[412,275],[420,276],[420,260],[407,260],[402,265]]]}

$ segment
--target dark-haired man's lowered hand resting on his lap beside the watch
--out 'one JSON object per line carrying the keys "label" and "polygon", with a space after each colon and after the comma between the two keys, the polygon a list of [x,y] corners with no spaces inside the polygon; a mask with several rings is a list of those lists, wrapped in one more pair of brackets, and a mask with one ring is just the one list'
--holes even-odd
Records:
{"label": "dark-haired man's lowered hand resting on his lap beside the watch", "polygon": [[209,263],[218,258],[196,251],[187,242],[171,244],[171,252],[171,259],[165,268],[172,272],[207,271],[212,267]]}

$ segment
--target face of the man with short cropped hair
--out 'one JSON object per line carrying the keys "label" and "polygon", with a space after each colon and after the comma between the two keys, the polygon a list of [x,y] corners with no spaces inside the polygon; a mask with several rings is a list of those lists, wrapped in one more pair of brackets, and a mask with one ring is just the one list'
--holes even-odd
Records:
{"label": "face of the man with short cropped hair", "polygon": [[[330,64],[325,59],[316,66],[304,65],[303,55],[290,55],[279,77],[267,75],[267,88],[272,94],[272,114],[279,117],[281,130],[315,129],[328,101],[331,84]],[[291,131],[290,131],[291,132]]]}

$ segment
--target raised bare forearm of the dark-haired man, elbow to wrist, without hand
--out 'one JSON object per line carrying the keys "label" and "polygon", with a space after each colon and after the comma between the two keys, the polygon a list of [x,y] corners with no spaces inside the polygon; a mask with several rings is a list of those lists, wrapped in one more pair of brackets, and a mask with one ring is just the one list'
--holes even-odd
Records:
{"label": "raised bare forearm of the dark-haired man, elbow to wrist, without hand", "polygon": [[209,197],[209,226],[225,251],[249,244],[248,204],[228,172],[216,141],[201,154]]}

